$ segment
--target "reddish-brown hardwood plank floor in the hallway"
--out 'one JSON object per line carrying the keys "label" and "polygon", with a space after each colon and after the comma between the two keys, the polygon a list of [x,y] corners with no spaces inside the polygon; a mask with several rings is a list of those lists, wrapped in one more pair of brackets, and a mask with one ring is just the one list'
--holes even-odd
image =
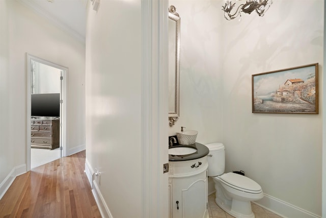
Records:
{"label": "reddish-brown hardwood plank floor in the hallway", "polygon": [[101,217],[84,168],[82,151],[16,177],[0,217]]}

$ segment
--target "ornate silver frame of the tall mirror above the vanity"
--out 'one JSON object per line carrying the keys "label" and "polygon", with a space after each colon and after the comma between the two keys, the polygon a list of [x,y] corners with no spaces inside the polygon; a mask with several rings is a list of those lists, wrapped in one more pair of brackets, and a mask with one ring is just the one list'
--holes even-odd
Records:
{"label": "ornate silver frame of the tall mirror above the vanity", "polygon": [[[176,52],[175,52],[175,101],[174,111],[169,111],[169,126],[172,127],[174,122],[178,120],[180,116],[180,16],[175,12],[175,7],[171,5],[169,7],[169,19],[176,22]],[[170,72],[168,72],[170,75]]]}

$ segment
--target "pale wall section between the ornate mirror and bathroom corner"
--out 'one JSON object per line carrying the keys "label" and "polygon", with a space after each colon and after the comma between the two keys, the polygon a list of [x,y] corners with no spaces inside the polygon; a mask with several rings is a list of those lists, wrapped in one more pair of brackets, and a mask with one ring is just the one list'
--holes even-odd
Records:
{"label": "pale wall section between the ornate mirror and bathroom corner", "polygon": [[[169,135],[197,130],[197,141],[222,141],[220,4],[174,1],[180,15],[180,117]],[[168,124],[167,124],[168,125]]]}

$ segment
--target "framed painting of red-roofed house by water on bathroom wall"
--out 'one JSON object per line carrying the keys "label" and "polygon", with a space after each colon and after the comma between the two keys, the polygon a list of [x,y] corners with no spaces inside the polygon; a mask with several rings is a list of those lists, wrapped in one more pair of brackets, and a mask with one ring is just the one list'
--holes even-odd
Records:
{"label": "framed painting of red-roofed house by water on bathroom wall", "polygon": [[252,112],[318,114],[318,63],[252,75]]}

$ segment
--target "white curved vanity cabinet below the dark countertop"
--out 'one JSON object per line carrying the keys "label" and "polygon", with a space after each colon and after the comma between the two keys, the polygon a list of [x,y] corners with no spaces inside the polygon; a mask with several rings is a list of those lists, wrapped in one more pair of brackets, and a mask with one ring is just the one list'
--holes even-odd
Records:
{"label": "white curved vanity cabinet below the dark countertop", "polygon": [[208,218],[207,157],[169,161],[170,218]]}

